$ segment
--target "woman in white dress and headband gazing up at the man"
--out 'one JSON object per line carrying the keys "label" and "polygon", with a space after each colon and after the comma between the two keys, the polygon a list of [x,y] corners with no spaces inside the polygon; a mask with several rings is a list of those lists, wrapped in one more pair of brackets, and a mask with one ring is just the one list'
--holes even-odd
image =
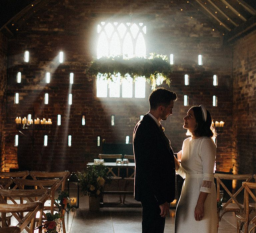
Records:
{"label": "woman in white dress and headband gazing up at the man", "polygon": [[191,137],[183,141],[175,158],[176,173],[185,178],[175,214],[175,233],[216,233],[217,195],[214,184],[216,131],[203,105],[189,109],[183,128]]}

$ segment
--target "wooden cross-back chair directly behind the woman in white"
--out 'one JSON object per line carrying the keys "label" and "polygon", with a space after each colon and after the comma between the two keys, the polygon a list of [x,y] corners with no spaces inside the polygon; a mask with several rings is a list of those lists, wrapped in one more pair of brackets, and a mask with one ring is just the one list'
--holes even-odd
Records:
{"label": "wooden cross-back chair directly behind the woman in white", "polygon": [[232,190],[229,190],[222,180],[237,180],[237,181],[246,181],[249,182],[252,178],[252,174],[222,174],[215,173],[214,178],[216,178],[217,182],[217,198],[220,200],[220,187],[222,187],[228,196],[228,200],[222,204],[222,214],[218,211],[218,220],[220,221],[222,216],[227,212],[235,212],[236,214],[240,211],[243,211],[243,203],[239,203],[237,200],[237,196],[244,190],[244,186],[241,186],[234,194],[232,194]]}

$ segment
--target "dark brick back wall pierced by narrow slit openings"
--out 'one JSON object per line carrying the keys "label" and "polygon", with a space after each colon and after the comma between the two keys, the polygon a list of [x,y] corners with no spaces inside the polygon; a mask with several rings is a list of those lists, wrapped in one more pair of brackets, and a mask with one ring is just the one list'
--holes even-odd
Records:
{"label": "dark brick back wall pierced by narrow slit openings", "polygon": [[[159,3],[160,4],[160,3]],[[106,142],[125,142],[126,135],[132,138],[133,128],[140,115],[148,109],[145,99],[96,98],[95,80],[84,74],[84,70],[96,56],[95,36],[101,21],[121,18],[143,22],[147,25],[145,41],[147,53],[174,54],[175,65],[171,74],[170,89],[178,94],[174,114],[163,122],[175,152],[179,151],[186,138],[182,128],[183,117],[192,105],[205,104],[214,120],[224,120],[225,127],[218,136],[217,169],[228,171],[232,165],[232,53],[222,43],[222,35],[207,25],[207,18],[194,10],[187,10],[184,3],[181,12],[177,5],[166,7],[162,1],[155,7],[154,1],[138,1],[131,7],[127,2],[63,0],[50,1],[36,11],[8,41],[7,70],[7,122],[2,158],[8,164],[4,169],[17,166],[34,170],[82,170],[88,161],[101,152],[97,147],[97,136]],[[147,6],[147,7],[145,7]],[[196,12],[196,14],[195,14]],[[196,17],[190,18],[194,14]],[[23,61],[24,51],[30,52],[30,61]],[[63,64],[56,62],[59,51],[64,52]],[[197,65],[198,54],[203,55],[203,66]],[[16,74],[22,73],[20,84]],[[51,81],[45,83],[45,73],[51,72]],[[74,73],[74,84],[69,84],[69,73]],[[184,75],[190,75],[190,85],[184,85]],[[219,85],[213,86],[213,75],[217,74]],[[168,87],[169,88],[169,87]],[[68,94],[72,92],[73,103],[68,105]],[[14,104],[14,94],[20,95],[19,104]],[[44,104],[44,94],[49,93],[49,104]],[[147,87],[146,96],[150,94]],[[183,106],[183,95],[189,96],[189,106]],[[218,97],[218,106],[212,107],[212,96]],[[36,130],[16,129],[16,116],[32,114],[33,119],[52,118],[50,128]],[[61,125],[57,126],[57,114],[61,114]],[[81,125],[82,115],[86,125]],[[111,126],[111,115],[116,125]],[[15,134],[19,135],[19,146],[14,147]],[[44,135],[48,135],[48,146],[43,146]],[[72,135],[72,146],[67,146],[67,135]],[[17,157],[19,155],[19,157]],[[17,160],[16,160],[17,159]],[[14,161],[14,162],[12,162]],[[26,161],[26,162],[24,162]]]}

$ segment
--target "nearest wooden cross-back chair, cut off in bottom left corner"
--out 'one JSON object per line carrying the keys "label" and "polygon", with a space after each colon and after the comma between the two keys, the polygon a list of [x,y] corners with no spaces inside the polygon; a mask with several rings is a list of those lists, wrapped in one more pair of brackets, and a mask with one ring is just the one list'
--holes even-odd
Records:
{"label": "nearest wooden cross-back chair, cut off in bottom left corner", "polygon": [[[17,227],[19,227],[20,231],[26,229],[28,232],[33,233],[35,229],[35,216],[37,211],[42,209],[42,202],[33,202],[33,203],[25,203],[25,204],[0,204],[0,212],[1,213],[12,213],[13,216],[19,216],[18,213],[25,213],[25,216],[21,219],[18,218],[19,223]],[[27,225],[30,224],[30,229]],[[2,229],[4,230],[4,229]],[[4,231],[8,232],[8,231]]]}

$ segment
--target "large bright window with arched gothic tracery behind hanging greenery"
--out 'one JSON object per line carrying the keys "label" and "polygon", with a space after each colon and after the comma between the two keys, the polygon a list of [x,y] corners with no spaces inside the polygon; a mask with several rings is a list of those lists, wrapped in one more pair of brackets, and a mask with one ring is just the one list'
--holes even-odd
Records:
{"label": "large bright window with arched gothic tracery behind hanging greenery", "polygon": [[[146,57],[144,35],[146,26],[143,23],[105,23],[101,22],[97,28],[97,58],[103,56],[114,57],[123,55],[123,58]],[[120,75],[113,76],[108,82],[101,75],[97,76],[97,97],[145,98],[145,79],[139,77],[133,83],[129,74],[126,79]],[[109,87],[109,89],[108,89]],[[134,91],[133,91],[134,89]]]}

